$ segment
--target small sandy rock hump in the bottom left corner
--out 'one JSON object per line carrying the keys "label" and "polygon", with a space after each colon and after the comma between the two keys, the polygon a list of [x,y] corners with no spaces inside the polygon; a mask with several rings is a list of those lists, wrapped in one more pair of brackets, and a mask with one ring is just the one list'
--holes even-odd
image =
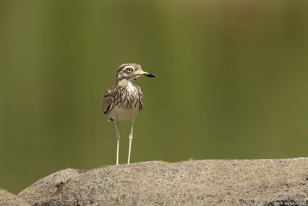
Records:
{"label": "small sandy rock hump in the bottom left corner", "polygon": [[0,189],[0,205],[1,206],[30,206],[30,204],[22,197],[18,197],[2,189]]}

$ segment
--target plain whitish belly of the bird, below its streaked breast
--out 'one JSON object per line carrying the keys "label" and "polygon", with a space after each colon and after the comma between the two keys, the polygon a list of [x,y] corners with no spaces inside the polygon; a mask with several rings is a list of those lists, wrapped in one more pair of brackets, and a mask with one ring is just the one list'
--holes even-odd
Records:
{"label": "plain whitish belly of the bird, below its streaked breast", "polygon": [[122,121],[127,119],[135,119],[139,111],[139,108],[133,108],[133,109],[125,109],[120,108],[118,105],[113,107],[108,113],[107,116],[109,116],[111,119],[116,121]]}

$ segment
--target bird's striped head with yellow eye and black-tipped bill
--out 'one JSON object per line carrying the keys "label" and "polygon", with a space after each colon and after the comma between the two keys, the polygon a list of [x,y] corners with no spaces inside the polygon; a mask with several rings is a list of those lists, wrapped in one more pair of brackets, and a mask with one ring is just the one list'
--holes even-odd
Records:
{"label": "bird's striped head with yellow eye and black-tipped bill", "polygon": [[141,69],[140,65],[129,63],[129,64],[122,64],[119,66],[115,74],[115,82],[119,82],[121,80],[127,80],[132,82],[133,80],[136,80],[136,78],[141,76],[157,77],[155,74],[144,72]]}

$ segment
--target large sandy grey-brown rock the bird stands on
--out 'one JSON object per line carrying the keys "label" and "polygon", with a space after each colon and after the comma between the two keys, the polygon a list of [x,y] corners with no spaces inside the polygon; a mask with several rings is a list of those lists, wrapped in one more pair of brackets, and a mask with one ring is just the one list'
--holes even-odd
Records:
{"label": "large sandy grey-brown rock the bird stands on", "polygon": [[301,201],[308,204],[308,158],[155,161],[62,170],[19,196],[32,205],[51,206],[274,205],[277,196],[304,197]]}

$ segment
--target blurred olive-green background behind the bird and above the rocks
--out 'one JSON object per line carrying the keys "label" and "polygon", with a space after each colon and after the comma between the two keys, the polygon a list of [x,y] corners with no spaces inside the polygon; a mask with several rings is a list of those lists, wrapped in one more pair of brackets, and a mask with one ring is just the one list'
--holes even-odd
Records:
{"label": "blurred olive-green background behind the bird and above the rocks", "polygon": [[[0,1],[0,187],[115,164],[104,92],[139,78],[131,162],[307,157],[307,1]],[[120,122],[120,163],[129,121]]]}

